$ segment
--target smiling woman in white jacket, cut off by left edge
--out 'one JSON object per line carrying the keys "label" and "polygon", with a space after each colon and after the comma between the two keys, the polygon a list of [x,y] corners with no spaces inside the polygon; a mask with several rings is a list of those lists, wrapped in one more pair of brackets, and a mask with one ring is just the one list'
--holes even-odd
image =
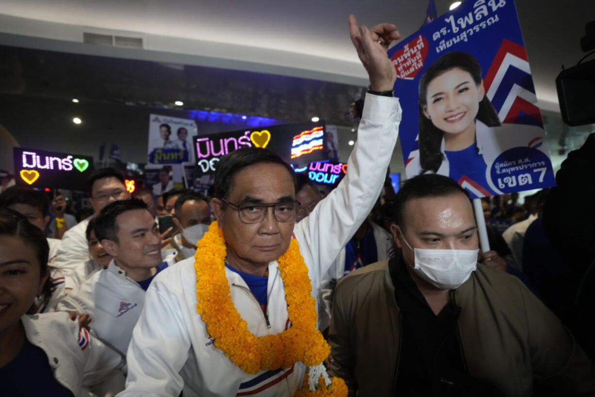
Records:
{"label": "smiling woman in white jacket, cut off by left edge", "polygon": [[112,396],[120,356],[66,313],[26,315],[48,276],[49,246],[26,218],[0,209],[0,387],[7,396]]}

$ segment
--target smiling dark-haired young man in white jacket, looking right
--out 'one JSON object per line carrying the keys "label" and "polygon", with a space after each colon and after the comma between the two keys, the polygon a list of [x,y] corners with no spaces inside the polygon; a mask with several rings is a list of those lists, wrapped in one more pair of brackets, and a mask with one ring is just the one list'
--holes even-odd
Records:
{"label": "smiling dark-haired young man in white jacket, looking right", "polygon": [[142,200],[109,204],[95,218],[95,234],[112,257],[108,268],[72,290],[57,309],[88,314],[96,336],[124,356],[145,291],[168,262],[161,258],[161,235]]}

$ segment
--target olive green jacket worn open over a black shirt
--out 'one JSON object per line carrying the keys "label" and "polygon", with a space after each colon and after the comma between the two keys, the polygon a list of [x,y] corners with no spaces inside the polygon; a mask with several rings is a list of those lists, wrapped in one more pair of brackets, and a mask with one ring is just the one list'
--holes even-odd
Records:
{"label": "olive green jacket worn open over a black shirt", "polygon": [[[518,278],[478,265],[453,296],[472,377],[509,397],[531,396],[537,387],[540,396],[595,396],[595,365]],[[349,396],[393,396],[399,335],[388,260],[340,280],[328,335],[330,373],[345,380]]]}

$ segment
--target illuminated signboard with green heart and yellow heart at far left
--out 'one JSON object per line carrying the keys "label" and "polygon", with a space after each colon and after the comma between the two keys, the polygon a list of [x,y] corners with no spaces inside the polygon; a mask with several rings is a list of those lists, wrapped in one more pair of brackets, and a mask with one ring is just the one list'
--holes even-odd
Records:
{"label": "illuminated signboard with green heart and yellow heart at far left", "polygon": [[19,186],[86,190],[93,157],[15,147],[14,175]]}

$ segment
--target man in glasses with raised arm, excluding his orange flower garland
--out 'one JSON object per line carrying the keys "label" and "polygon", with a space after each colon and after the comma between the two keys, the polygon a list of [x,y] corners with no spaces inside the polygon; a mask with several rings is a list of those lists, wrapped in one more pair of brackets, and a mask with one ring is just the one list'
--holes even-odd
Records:
{"label": "man in glasses with raised arm, excluding his orange flower garland", "polygon": [[[224,271],[233,305],[255,336],[281,333],[290,325],[284,299],[287,281],[281,280],[276,259],[287,250],[292,235],[308,267],[315,299],[322,275],[362,224],[383,185],[401,113],[392,95],[396,71],[386,48],[399,34],[389,24],[358,30],[353,16],[350,33],[371,88],[349,171],[308,218],[295,225],[295,207],[289,213],[293,217],[288,216],[295,203],[295,177],[289,165],[274,154],[245,148],[218,163],[211,209],[226,241]],[[262,215],[261,222],[246,223],[240,207]],[[265,279],[258,290],[250,281],[254,277]],[[181,391],[184,397],[293,396],[302,386],[306,371],[302,362],[256,374],[242,371],[215,347],[196,306],[194,258],[155,278],[134,328],[127,354],[127,388],[119,396],[178,396]]]}

